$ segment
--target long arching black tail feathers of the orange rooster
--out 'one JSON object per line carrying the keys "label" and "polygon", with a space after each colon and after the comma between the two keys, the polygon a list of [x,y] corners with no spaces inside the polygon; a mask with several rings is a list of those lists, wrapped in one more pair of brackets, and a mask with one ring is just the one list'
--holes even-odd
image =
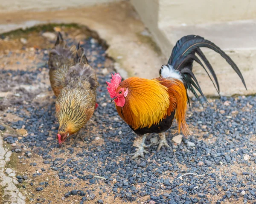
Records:
{"label": "long arching black tail feathers of the orange rooster", "polygon": [[204,99],[206,98],[201,90],[201,87],[198,84],[197,79],[195,78],[195,75],[192,72],[192,63],[193,61],[196,61],[204,68],[206,72],[207,69],[204,67],[204,65],[201,63],[201,61],[195,54],[198,54],[198,56],[206,64],[207,68],[209,69],[209,72],[211,73],[216,83],[216,86],[208,72],[207,75],[211,79],[213,85],[215,86],[215,89],[219,94],[218,78],[211,64],[205,57],[204,53],[201,51],[201,47],[206,47],[219,53],[221,57],[223,57],[227,61],[227,63],[230,64],[230,66],[234,69],[237,75],[239,75],[242,83],[244,84],[244,87],[247,89],[244,78],[236,63],[234,63],[233,60],[224,51],[222,51],[218,46],[216,46],[209,40],[205,40],[203,37],[200,37],[198,35],[188,35],[182,37],[180,40],[177,41],[175,47],[172,50],[172,54],[168,60],[168,64],[172,66],[173,69],[178,70],[180,72],[180,75],[183,77],[184,85],[188,90],[190,90],[195,95],[197,99],[199,99],[199,96],[195,92],[195,89],[198,90],[198,92],[204,97]]}

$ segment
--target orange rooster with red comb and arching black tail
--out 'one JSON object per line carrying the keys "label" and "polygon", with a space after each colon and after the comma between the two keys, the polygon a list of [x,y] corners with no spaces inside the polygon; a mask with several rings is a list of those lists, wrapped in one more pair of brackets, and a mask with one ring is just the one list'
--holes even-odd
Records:
{"label": "orange rooster with red comb and arching black tail", "polygon": [[199,63],[206,72],[207,69],[195,54],[206,64],[216,85],[208,72],[207,74],[219,94],[218,79],[201,47],[212,49],[224,57],[246,88],[244,78],[233,60],[214,43],[197,35],[184,36],[177,41],[168,63],[161,66],[160,77],[152,80],[131,77],[122,81],[122,77],[116,73],[112,74],[111,82],[106,82],[111,102],[115,102],[119,116],[137,134],[133,144],[137,149],[132,159],[139,156],[145,158],[144,153],[148,153],[144,148],[150,147],[152,143],[145,145],[147,133],[159,134],[157,151],[163,146],[170,147],[166,142],[165,132],[171,127],[174,119],[177,121],[179,133],[182,130],[185,136],[190,134],[185,119],[189,103],[188,91],[199,99],[198,91],[206,100],[192,72],[193,61]]}

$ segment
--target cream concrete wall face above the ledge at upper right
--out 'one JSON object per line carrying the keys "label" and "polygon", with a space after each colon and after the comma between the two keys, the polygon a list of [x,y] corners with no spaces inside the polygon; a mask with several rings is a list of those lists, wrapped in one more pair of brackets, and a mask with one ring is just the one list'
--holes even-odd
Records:
{"label": "cream concrete wall face above the ledge at upper right", "polygon": [[[138,2],[142,2],[137,0]],[[256,18],[255,0],[158,0],[159,26]],[[135,5],[134,5],[135,6]],[[135,6],[136,8],[136,6]],[[140,13],[140,15],[144,15]]]}

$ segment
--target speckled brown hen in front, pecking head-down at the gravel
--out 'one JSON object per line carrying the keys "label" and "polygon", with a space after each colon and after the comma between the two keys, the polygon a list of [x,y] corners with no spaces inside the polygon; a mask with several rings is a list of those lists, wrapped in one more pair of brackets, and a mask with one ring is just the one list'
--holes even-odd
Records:
{"label": "speckled brown hen in front, pecking head-down at the gravel", "polygon": [[[87,63],[84,50],[79,48],[77,63],[67,72],[65,86],[58,95],[55,108],[59,122],[57,139],[59,146],[73,134],[78,137],[80,129],[92,117],[97,108],[96,88],[99,83],[93,68]],[[82,141],[83,138],[81,137]]]}

